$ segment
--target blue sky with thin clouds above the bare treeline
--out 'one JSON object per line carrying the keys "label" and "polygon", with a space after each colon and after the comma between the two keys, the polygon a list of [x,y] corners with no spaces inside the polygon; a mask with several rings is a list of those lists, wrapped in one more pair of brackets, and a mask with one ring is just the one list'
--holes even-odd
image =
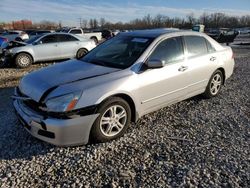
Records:
{"label": "blue sky with thin clouds above the bare treeline", "polygon": [[0,22],[50,20],[77,26],[79,18],[126,22],[147,14],[198,17],[203,12],[250,15],[250,0],[0,0]]}

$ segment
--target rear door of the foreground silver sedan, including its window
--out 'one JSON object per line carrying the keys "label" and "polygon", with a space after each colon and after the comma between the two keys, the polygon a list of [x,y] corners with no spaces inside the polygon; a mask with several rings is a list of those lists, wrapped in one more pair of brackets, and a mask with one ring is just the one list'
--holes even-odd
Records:
{"label": "rear door of the foreground silver sedan, including its window", "polygon": [[188,97],[205,91],[217,67],[217,54],[209,41],[202,36],[184,36],[187,67]]}

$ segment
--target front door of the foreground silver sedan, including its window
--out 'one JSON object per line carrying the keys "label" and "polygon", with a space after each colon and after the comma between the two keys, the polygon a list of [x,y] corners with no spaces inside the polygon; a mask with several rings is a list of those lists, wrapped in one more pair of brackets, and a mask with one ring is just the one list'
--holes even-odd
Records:
{"label": "front door of the foreground silver sedan, including its window", "polygon": [[181,37],[166,39],[158,44],[150,60],[165,62],[162,68],[147,69],[138,75],[143,114],[178,102],[187,93],[188,74]]}

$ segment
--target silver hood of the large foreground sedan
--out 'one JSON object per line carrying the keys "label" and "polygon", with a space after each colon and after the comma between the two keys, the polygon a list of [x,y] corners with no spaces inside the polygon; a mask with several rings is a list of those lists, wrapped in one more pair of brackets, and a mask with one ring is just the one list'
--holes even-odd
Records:
{"label": "silver hood of the large foreground sedan", "polygon": [[60,85],[109,74],[120,69],[69,60],[24,76],[19,84],[22,94],[39,102],[44,95]]}

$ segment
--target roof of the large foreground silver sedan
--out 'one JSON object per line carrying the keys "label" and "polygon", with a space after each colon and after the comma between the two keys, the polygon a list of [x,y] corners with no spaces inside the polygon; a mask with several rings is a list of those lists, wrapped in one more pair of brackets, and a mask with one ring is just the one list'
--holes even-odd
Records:
{"label": "roof of the large foreground silver sedan", "polygon": [[120,35],[157,38],[164,34],[176,33],[176,32],[183,32],[183,30],[179,30],[176,28],[146,29],[146,30],[135,30],[131,32],[121,32]]}

